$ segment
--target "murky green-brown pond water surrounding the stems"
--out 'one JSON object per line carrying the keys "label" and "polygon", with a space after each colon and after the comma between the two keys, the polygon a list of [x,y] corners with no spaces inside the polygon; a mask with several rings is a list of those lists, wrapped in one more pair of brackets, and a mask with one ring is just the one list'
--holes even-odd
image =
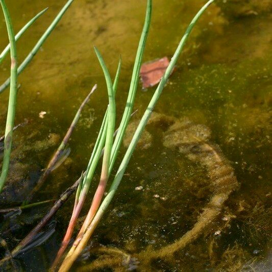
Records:
{"label": "murky green-brown pond water surrounding the stems", "polygon": [[[64,3],[63,0],[21,0],[16,1],[15,6],[13,1],[7,1],[15,30],[41,9],[50,7],[18,42],[20,61]],[[202,3],[204,1],[199,0],[154,1],[144,61],[171,57]],[[147,127],[148,133],[138,145],[118,193],[95,231],[90,254],[86,252],[76,262],[74,270],[89,271],[94,267],[94,260],[98,267],[103,259],[108,263],[111,260],[114,263],[111,268],[118,271],[133,267],[143,271],[269,270],[271,1],[253,0],[250,4],[241,1],[238,6],[233,3],[235,1],[211,6],[197,24],[156,106],[156,112],[163,115]],[[20,205],[25,199],[81,101],[97,83],[98,89],[69,141],[69,158],[52,173],[34,201],[57,199],[86,168],[107,106],[106,85],[92,46],[95,44],[103,53],[111,75],[122,55],[116,97],[120,120],[144,10],[145,1],[142,0],[76,0],[34,61],[20,75],[16,123],[24,118],[29,123],[14,134],[9,181],[6,192],[0,196],[1,207]],[[0,31],[0,46],[4,48],[8,39],[3,20]],[[8,76],[9,61],[0,69],[2,82]],[[153,92],[154,88],[142,91],[139,86],[135,104],[139,111],[133,117],[135,122]],[[0,103],[1,135],[7,102],[8,91],[5,91]],[[47,112],[43,119],[39,118],[40,111]],[[189,130],[193,125],[187,131],[179,125],[185,119],[190,120],[190,124],[199,124],[194,132],[210,131],[205,144],[224,158],[228,167],[234,168],[239,186],[230,192],[220,207],[220,214],[199,238],[171,257],[149,262],[148,254],[143,252],[159,251],[182,237],[193,228],[203,209],[209,207],[216,191],[229,190],[229,184],[218,183],[221,187],[216,188],[208,163],[200,155],[184,151],[181,148],[184,142],[178,144],[184,135],[195,135]],[[173,123],[178,124],[175,130],[171,130]],[[174,135],[178,138],[171,138]],[[167,139],[172,140],[167,142]],[[177,144],[171,144],[173,139]],[[125,146],[121,154],[124,152]],[[90,195],[98,177],[99,172]],[[143,189],[135,190],[137,186]],[[81,221],[89,205],[90,200],[82,211]],[[72,206],[73,197],[55,217],[54,234],[43,244],[16,257],[15,263],[20,269],[45,271],[50,267]],[[28,233],[49,207],[1,218],[1,236],[9,249]],[[101,245],[115,247],[122,253],[102,252]],[[126,263],[122,260],[123,253],[135,259]],[[13,270],[9,264],[4,269]],[[110,270],[107,266],[101,269]]]}

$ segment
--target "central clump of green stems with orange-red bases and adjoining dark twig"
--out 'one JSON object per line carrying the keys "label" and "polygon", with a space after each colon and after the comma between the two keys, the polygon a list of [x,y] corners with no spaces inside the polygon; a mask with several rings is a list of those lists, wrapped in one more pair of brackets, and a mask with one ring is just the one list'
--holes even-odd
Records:
{"label": "central clump of green stems with orange-red bases and adjoining dark twig", "polygon": [[[103,156],[103,165],[102,165],[102,173],[101,173],[101,180],[100,183],[98,184],[97,190],[94,194],[93,201],[89,210],[89,213],[84,221],[84,224],[77,236],[77,239],[75,243],[72,245],[72,248],[70,249],[68,255],[66,256],[63,264],[60,267],[61,271],[66,271],[69,269],[69,267],[72,265],[73,261],[79,256],[81,251],[84,249],[86,246],[91,234],[93,233],[94,229],[96,228],[98,222],[100,221],[105,209],[108,207],[109,203],[111,202],[118,185],[121,182],[122,176],[125,173],[126,167],[129,163],[130,158],[132,157],[132,154],[135,150],[136,144],[141,136],[141,133],[143,132],[147,121],[149,120],[151,113],[160,97],[160,94],[162,93],[162,90],[167,83],[167,79],[174,68],[179,55],[181,54],[183,47],[187,41],[187,38],[194,27],[196,21],[199,19],[199,17],[203,14],[203,12],[206,10],[206,8],[213,2],[214,0],[210,0],[206,3],[206,5],[203,6],[203,8],[199,11],[199,13],[196,14],[196,16],[193,18],[191,23],[189,24],[189,27],[187,28],[185,35],[182,37],[179,46],[174,54],[174,56],[171,59],[171,62],[169,66],[167,67],[164,76],[162,77],[160,84],[158,88],[156,89],[152,100],[147,107],[140,123],[139,126],[136,129],[136,132],[130,142],[130,145],[128,147],[128,150],[123,157],[123,160],[117,170],[117,174],[112,182],[112,185],[110,187],[109,193],[105,197],[104,201],[101,204],[102,197],[104,195],[105,187],[109,178],[109,174],[113,168],[115,159],[117,157],[120,144],[123,140],[123,136],[126,132],[128,122],[131,116],[131,112],[133,109],[134,105],[134,98],[137,90],[137,85],[138,85],[138,77],[139,77],[139,69],[141,66],[141,60],[142,60],[142,55],[143,55],[143,50],[144,50],[144,45],[147,37],[147,33],[149,30],[150,26],[150,20],[151,20],[151,10],[152,10],[152,1],[148,0],[147,1],[147,10],[146,10],[146,18],[145,18],[145,23],[144,23],[144,28],[142,31],[141,39],[139,42],[138,46],[138,51],[136,55],[136,60],[134,64],[134,70],[133,70],[133,75],[132,75],[132,80],[131,80],[131,86],[129,90],[129,95],[128,95],[128,100],[127,100],[127,105],[125,108],[125,111],[123,113],[123,117],[119,126],[119,129],[117,131],[117,135],[115,138],[115,141],[113,142],[113,137],[114,137],[114,126],[115,126],[115,92],[117,88],[117,83],[118,83],[118,78],[119,78],[119,73],[120,73],[120,62],[117,68],[114,84],[111,82],[111,78],[108,72],[108,69],[106,67],[106,64],[98,50],[95,48],[95,53],[98,57],[98,60],[100,61],[100,64],[102,66],[102,69],[104,71],[104,76],[106,79],[107,83],[107,89],[108,89],[108,96],[109,96],[109,106],[108,109],[105,113],[104,120],[102,122],[101,130],[100,133],[98,134],[97,141],[95,143],[88,167],[86,172],[81,176],[81,178],[72,186],[72,189],[69,188],[68,191],[62,196],[63,200],[66,200],[68,195],[72,193],[72,191],[75,190],[75,188],[78,186],[77,194],[76,194],[76,200],[75,200],[75,205],[72,213],[72,217],[68,226],[68,230],[66,232],[64,241],[62,243],[60,252],[57,256],[57,259],[54,263],[54,265],[57,265],[59,259],[61,258],[63,252],[66,249],[66,246],[70,240],[70,237],[72,235],[73,228],[75,227],[76,220],[78,218],[79,212],[82,208],[82,205],[85,201],[87,191],[90,185],[90,182],[92,180],[94,170],[97,166],[98,160],[101,157],[101,153],[103,152],[103,146],[105,145],[105,151],[104,151],[104,156]],[[76,117],[75,117],[76,118]],[[75,120],[75,119],[74,119]],[[67,134],[66,134],[67,135]],[[66,143],[61,144],[57,153],[63,152],[63,147]],[[55,155],[56,155],[55,154]],[[56,155],[53,157],[53,163],[51,165],[48,164],[48,171],[52,170],[52,167],[54,167],[54,164],[56,164],[55,158],[58,159],[59,155]],[[47,172],[47,171],[46,171]],[[39,185],[38,185],[39,186]],[[25,239],[23,239],[23,242],[20,243],[10,254],[11,256],[15,256],[18,252],[20,252],[24,246],[29,244],[31,239],[33,238],[33,235],[35,232],[37,233],[38,230],[41,229],[42,226],[44,226],[45,222],[48,221],[48,218],[51,218],[52,214],[56,212],[58,207],[62,205],[62,197],[59,202],[57,202],[54,207],[51,209],[50,213],[46,215],[46,220],[42,220],[40,224],[36,226],[36,228],[31,232]],[[217,213],[216,213],[217,214]],[[196,227],[198,228],[198,227]],[[179,245],[173,245],[172,248],[179,248]],[[174,250],[175,251],[175,250]],[[168,250],[167,250],[168,252]],[[160,254],[163,256],[163,253]]]}

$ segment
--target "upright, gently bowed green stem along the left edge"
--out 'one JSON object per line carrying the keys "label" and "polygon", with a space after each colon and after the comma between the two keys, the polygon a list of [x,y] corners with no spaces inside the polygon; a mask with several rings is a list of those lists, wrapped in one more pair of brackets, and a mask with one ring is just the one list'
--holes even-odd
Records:
{"label": "upright, gently bowed green stem along the left edge", "polygon": [[0,176],[0,193],[1,193],[8,176],[11,146],[12,146],[12,134],[13,134],[13,127],[14,127],[16,98],[17,98],[17,53],[16,53],[15,36],[14,36],[8,8],[4,0],[0,0],[0,3],[1,3],[3,13],[5,16],[9,42],[10,42],[10,57],[11,57],[11,67],[10,67],[11,83],[10,83],[10,94],[9,94],[9,106],[8,106],[5,140],[4,140],[4,158],[3,158],[2,172]]}

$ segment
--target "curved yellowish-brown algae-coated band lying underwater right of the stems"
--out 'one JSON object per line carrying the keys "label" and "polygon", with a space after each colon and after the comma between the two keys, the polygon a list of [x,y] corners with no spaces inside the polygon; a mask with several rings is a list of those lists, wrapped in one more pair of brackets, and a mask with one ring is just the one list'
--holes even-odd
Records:
{"label": "curved yellowish-brown algae-coated band lying underwater right of the stems", "polygon": [[[133,134],[134,123],[130,126],[131,129],[128,132]],[[118,271],[125,270],[125,266],[128,269],[139,267],[140,270],[149,271],[152,270],[151,265],[156,259],[171,262],[171,259],[175,258],[175,252],[183,250],[200,235],[204,233],[208,235],[213,231],[214,220],[221,213],[231,192],[238,187],[234,169],[221,154],[219,147],[210,143],[211,132],[206,126],[195,125],[187,118],[179,120],[159,113],[152,114],[147,130],[150,130],[152,126],[162,130],[162,140],[165,147],[168,149],[178,148],[180,153],[189,160],[205,166],[213,192],[210,201],[203,208],[204,211],[199,215],[192,229],[174,243],[155,250],[148,246],[142,252],[134,253],[131,256],[117,249],[98,249],[100,255],[91,265],[87,266],[87,269],[115,267]],[[156,133],[156,135],[158,134]],[[131,136],[127,133],[127,137]],[[153,137],[148,139],[150,141],[145,144],[151,146]],[[126,144],[126,142],[127,140],[124,143]],[[208,196],[206,195],[206,197]]]}

